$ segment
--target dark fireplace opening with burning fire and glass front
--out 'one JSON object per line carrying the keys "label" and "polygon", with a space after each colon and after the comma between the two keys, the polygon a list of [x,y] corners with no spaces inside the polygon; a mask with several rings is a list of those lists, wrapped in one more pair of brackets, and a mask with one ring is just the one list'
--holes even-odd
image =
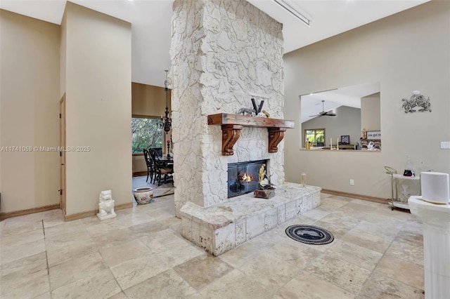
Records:
{"label": "dark fireplace opening with burning fire and glass front", "polygon": [[246,161],[228,164],[228,197],[253,192],[258,189],[259,168],[267,169],[268,160]]}

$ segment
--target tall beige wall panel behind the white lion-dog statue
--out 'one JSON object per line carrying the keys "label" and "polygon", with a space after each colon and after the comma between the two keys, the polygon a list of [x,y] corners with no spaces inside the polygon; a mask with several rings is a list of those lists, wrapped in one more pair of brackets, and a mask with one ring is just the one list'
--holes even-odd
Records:
{"label": "tall beige wall panel behind the white lion-dog statue", "polygon": [[102,190],[131,203],[131,25],[71,2],[65,13],[67,145],[91,149],[67,153],[72,215],[96,210]]}

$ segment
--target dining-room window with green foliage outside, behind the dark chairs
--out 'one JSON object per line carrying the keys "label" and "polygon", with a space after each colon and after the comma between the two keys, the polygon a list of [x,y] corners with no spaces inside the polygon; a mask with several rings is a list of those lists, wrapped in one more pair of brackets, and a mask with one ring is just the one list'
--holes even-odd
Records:
{"label": "dining-room window with green foliage outside, behind the dark chairs", "polygon": [[161,119],[131,118],[131,149],[133,154],[142,153],[150,147],[162,148]]}

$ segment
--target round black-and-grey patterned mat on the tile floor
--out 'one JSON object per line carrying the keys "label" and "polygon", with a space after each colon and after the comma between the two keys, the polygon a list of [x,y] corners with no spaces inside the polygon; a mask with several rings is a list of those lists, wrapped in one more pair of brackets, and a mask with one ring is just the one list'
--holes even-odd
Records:
{"label": "round black-and-grey patterned mat on the tile floor", "polygon": [[314,225],[291,225],[286,234],[295,241],[314,245],[328,244],[335,239],[328,230]]}

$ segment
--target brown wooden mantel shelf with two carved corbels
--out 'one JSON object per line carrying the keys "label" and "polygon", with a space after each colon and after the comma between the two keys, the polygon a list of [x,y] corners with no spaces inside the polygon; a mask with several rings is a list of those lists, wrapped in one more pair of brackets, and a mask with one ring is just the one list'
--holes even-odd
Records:
{"label": "brown wooden mantel shelf with two carved corbels", "polygon": [[222,155],[232,156],[233,146],[238,141],[240,130],[245,126],[267,128],[269,131],[269,152],[278,152],[278,143],[283,140],[287,128],[294,128],[294,121],[286,119],[268,119],[266,117],[249,117],[240,114],[210,114],[209,125],[220,125],[222,128]]}

